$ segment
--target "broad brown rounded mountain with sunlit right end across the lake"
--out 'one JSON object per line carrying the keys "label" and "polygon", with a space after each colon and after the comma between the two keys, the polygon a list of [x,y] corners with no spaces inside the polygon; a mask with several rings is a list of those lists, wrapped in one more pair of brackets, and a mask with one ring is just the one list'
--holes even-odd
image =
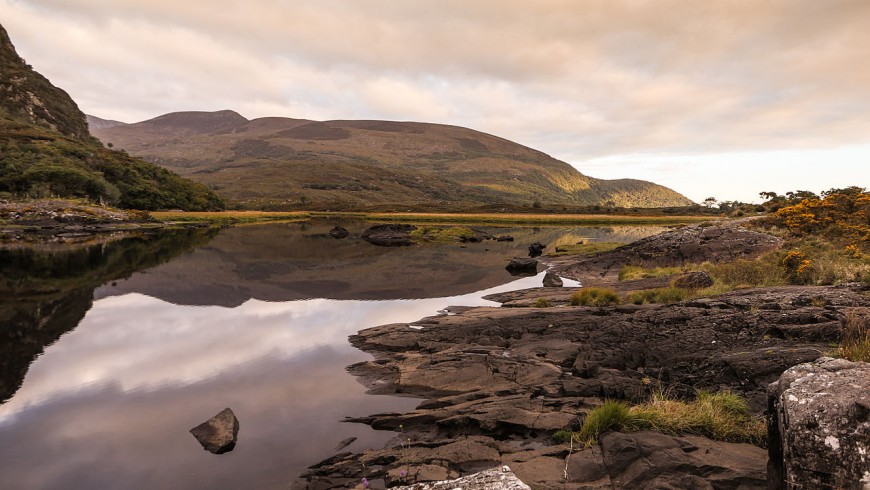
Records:
{"label": "broad brown rounded mountain with sunlit right end across the lake", "polygon": [[92,134],[250,208],[463,210],[671,207],[692,202],[640,180],[600,180],[472,129],[176,112]]}

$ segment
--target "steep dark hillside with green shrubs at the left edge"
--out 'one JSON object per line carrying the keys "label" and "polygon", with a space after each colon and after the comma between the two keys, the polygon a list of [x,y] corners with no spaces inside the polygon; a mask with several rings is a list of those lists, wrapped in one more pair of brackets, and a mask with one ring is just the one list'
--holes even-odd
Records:
{"label": "steep dark hillside with green shrubs at the left edge", "polygon": [[76,103],[18,56],[0,26],[0,199],[53,196],[143,210],[223,207],[202,184],[104,148]]}

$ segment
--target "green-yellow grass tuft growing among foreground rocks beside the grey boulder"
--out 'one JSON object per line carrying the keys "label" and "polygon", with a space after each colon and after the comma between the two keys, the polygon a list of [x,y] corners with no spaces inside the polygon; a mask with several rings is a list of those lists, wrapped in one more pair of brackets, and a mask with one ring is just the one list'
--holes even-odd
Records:
{"label": "green-yellow grass tuft growing among foreground rocks beside the grey boulder", "polygon": [[[753,417],[746,400],[731,392],[698,392],[697,399],[684,402],[659,393],[650,401],[630,406],[623,401],[607,401],[589,412],[574,441],[587,447],[596,444],[606,431],[634,432],[655,430],[672,435],[699,435],[726,442],[745,442],[764,446],[764,420]],[[566,439],[560,431],[560,439]]]}

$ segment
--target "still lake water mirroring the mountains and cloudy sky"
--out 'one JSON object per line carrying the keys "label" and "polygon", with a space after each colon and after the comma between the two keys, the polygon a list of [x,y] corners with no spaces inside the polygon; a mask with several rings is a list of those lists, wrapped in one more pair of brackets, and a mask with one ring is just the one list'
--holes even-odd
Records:
{"label": "still lake water mirroring the mountains and cloudy sky", "polygon": [[[483,229],[514,242],[382,248],[335,222],[183,230],[0,250],[0,488],[287,488],[393,434],[345,417],[412,409],[345,366],[358,330],[538,286],[504,265],[533,241],[628,242],[660,227]],[[188,430],[231,407],[232,452]]]}

